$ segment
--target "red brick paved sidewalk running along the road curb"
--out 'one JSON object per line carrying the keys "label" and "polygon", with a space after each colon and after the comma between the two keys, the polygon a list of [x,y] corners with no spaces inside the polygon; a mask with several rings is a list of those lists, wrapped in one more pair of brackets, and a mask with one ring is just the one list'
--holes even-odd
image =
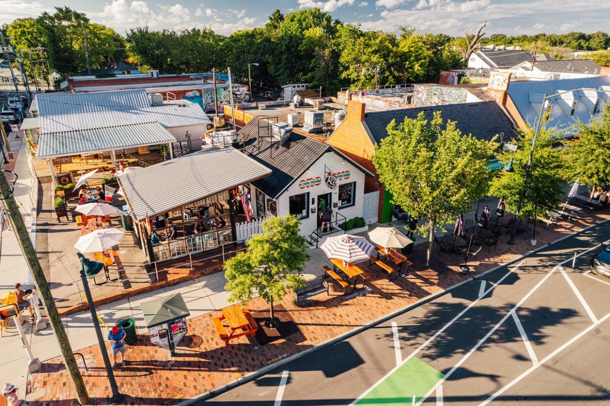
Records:
{"label": "red brick paved sidewalk running along the road curb", "polygon": [[[607,212],[580,223],[566,222],[549,229],[539,226],[537,246],[606,218],[610,218]],[[127,394],[126,404],[175,404],[367,324],[431,293],[451,287],[473,273],[508,262],[532,248],[530,237],[531,233],[523,233],[514,247],[504,242],[507,237],[502,237],[497,251],[483,248],[469,260],[473,271],[467,276],[456,272],[458,261],[453,258],[446,260],[436,251],[431,269],[422,269],[427,244],[420,244],[410,256],[415,263],[415,272],[405,278],[389,281],[375,265],[362,265],[368,276],[367,289],[357,294],[339,296],[340,293],[332,289],[330,296],[320,294],[310,300],[309,307],[303,308],[296,307],[294,294],[289,294],[276,314],[282,320],[292,319],[297,329],[284,339],[263,346],[256,339],[246,337],[224,346],[210,321],[211,317],[220,315],[218,311],[188,321],[187,337],[178,347],[174,360],[168,351],[153,346],[148,335],[143,335],[137,343],[129,346],[127,365],[116,370],[118,385],[121,392]],[[439,259],[439,255],[442,258]],[[257,318],[264,317],[268,308],[260,298],[244,305],[255,312]],[[90,346],[79,352],[85,356],[89,368],[89,371],[83,369],[82,373],[91,403],[109,404],[106,396],[110,394],[110,388],[98,347]],[[41,372],[30,375],[27,393],[29,404],[76,404],[60,358],[46,361]]]}

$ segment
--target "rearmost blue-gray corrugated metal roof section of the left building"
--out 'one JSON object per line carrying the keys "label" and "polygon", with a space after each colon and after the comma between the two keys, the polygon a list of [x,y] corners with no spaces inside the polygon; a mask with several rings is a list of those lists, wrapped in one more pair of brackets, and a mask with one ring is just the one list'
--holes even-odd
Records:
{"label": "rearmost blue-gray corrugated metal roof section of the left building", "polygon": [[149,107],[145,89],[99,91],[91,93],[37,93],[38,115],[107,112],[109,110]]}

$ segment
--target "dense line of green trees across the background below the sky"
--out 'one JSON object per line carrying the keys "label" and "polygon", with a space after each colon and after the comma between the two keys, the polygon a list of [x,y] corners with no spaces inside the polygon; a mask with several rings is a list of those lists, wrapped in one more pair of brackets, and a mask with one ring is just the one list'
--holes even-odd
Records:
{"label": "dense line of green trees across the background below the sky", "polygon": [[[461,68],[464,38],[444,34],[417,34],[403,27],[398,34],[365,31],[357,24],[343,24],[320,9],[282,14],[275,10],[264,27],[238,30],[229,36],[211,29],[152,30],[137,27],[120,35],[101,24],[91,23],[84,13],[56,8],[38,18],[18,18],[2,29],[18,49],[46,48],[52,70],[74,74],[86,68],[83,33],[87,37],[91,68],[126,60],[142,69],[161,73],[210,71],[217,68],[240,79],[286,84],[308,82],[332,94],[342,87],[366,87],[409,82],[436,81],[440,70]],[[604,32],[583,34],[493,34],[481,43],[497,45],[546,45],[573,49],[606,49],[610,37]],[[547,51],[543,51],[547,52]],[[29,59],[41,55],[24,53]],[[34,64],[35,68],[40,63]],[[38,68],[37,68],[38,69]],[[39,72],[37,72],[40,74]]]}

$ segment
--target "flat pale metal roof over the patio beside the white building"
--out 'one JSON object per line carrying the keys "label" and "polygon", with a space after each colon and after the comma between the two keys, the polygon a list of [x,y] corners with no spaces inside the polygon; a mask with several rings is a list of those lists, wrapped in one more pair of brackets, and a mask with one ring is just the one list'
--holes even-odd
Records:
{"label": "flat pale metal roof over the patio beside the white building", "polygon": [[271,174],[233,148],[193,152],[139,168],[119,178],[135,218],[165,213]]}

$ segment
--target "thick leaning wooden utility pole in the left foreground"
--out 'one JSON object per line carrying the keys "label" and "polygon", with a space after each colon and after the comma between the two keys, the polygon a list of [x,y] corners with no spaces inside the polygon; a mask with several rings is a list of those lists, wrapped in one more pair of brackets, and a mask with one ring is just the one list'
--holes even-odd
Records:
{"label": "thick leaning wooden utility pole in the left foreground", "polygon": [[[32,245],[27,234],[26,224],[23,223],[23,217],[19,212],[19,208],[15,202],[15,196],[13,196],[13,190],[9,186],[4,171],[0,171],[0,198],[2,199],[2,206],[10,217],[10,221],[13,224],[13,231],[17,237],[17,241],[21,247],[24,258],[26,258],[27,266],[30,269],[30,274],[34,277],[34,283],[38,291],[38,297],[43,302],[46,308],[47,317],[51,322],[51,327],[55,333],[55,338],[59,344],[59,349],[62,351],[63,364],[68,371],[68,376],[72,383],[72,388],[76,394],[76,400],[81,405],[89,403],[89,395],[87,394],[87,387],[82,379],[81,371],[78,368],[76,359],[74,359],[74,353],[68,341],[68,335],[66,330],[63,328],[62,319],[57,312],[51,290],[49,289],[48,282],[45,279],[45,274],[38,262],[36,251]],[[17,321],[18,322],[18,321]]]}

